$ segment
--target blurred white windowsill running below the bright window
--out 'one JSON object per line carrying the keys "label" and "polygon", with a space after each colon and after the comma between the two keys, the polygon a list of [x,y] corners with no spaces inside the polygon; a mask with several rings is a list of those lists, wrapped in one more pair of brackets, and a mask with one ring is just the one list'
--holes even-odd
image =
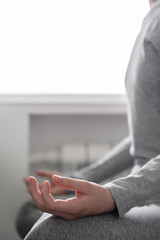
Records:
{"label": "blurred white windowsill running below the bright window", "polygon": [[29,114],[126,114],[126,96],[0,95],[0,109]]}

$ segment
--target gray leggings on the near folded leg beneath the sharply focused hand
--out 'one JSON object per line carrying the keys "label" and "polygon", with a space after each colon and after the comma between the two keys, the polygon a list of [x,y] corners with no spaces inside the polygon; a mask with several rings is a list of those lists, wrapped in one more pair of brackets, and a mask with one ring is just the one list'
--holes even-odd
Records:
{"label": "gray leggings on the near folded leg beneath the sharply focused hand", "polygon": [[123,218],[117,213],[67,221],[44,213],[25,240],[159,240],[160,205],[131,209]]}

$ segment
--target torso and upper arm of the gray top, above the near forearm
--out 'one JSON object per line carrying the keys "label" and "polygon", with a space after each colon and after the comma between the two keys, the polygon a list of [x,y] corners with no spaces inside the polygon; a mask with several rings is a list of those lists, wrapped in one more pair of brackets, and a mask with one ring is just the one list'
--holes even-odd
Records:
{"label": "torso and upper arm of the gray top, above the near forearm", "polygon": [[131,155],[143,165],[160,154],[160,2],[143,21],[125,84]]}

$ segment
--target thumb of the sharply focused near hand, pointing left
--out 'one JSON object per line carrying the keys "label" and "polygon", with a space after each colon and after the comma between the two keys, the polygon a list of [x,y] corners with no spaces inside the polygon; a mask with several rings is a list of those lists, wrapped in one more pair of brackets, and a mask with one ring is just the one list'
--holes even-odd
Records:
{"label": "thumb of the sharply focused near hand, pointing left", "polygon": [[74,191],[80,191],[83,193],[88,193],[88,191],[90,189],[89,182],[87,182],[85,180],[79,180],[79,179],[74,179],[74,178],[69,178],[69,177],[53,175],[52,181],[58,187],[68,189],[68,190],[74,190]]}

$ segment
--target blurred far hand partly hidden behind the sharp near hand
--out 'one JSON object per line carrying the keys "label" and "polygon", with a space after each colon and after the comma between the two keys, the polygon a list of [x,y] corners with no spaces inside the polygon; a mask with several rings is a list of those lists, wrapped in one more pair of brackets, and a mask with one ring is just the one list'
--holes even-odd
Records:
{"label": "blurred far hand partly hidden behind the sharp near hand", "polygon": [[[45,177],[45,178],[48,178],[50,180],[50,186],[51,186],[50,193],[52,195],[55,196],[55,195],[62,195],[62,194],[66,194],[67,193],[66,189],[59,188],[51,180],[51,178],[52,178],[52,176],[54,174],[62,175],[61,173],[56,172],[56,171],[48,171],[48,170],[37,170],[35,173],[36,173],[37,176]],[[26,183],[26,178],[24,179],[24,181]],[[39,185],[39,189],[40,190],[41,190],[41,188],[42,188],[42,185]]]}

